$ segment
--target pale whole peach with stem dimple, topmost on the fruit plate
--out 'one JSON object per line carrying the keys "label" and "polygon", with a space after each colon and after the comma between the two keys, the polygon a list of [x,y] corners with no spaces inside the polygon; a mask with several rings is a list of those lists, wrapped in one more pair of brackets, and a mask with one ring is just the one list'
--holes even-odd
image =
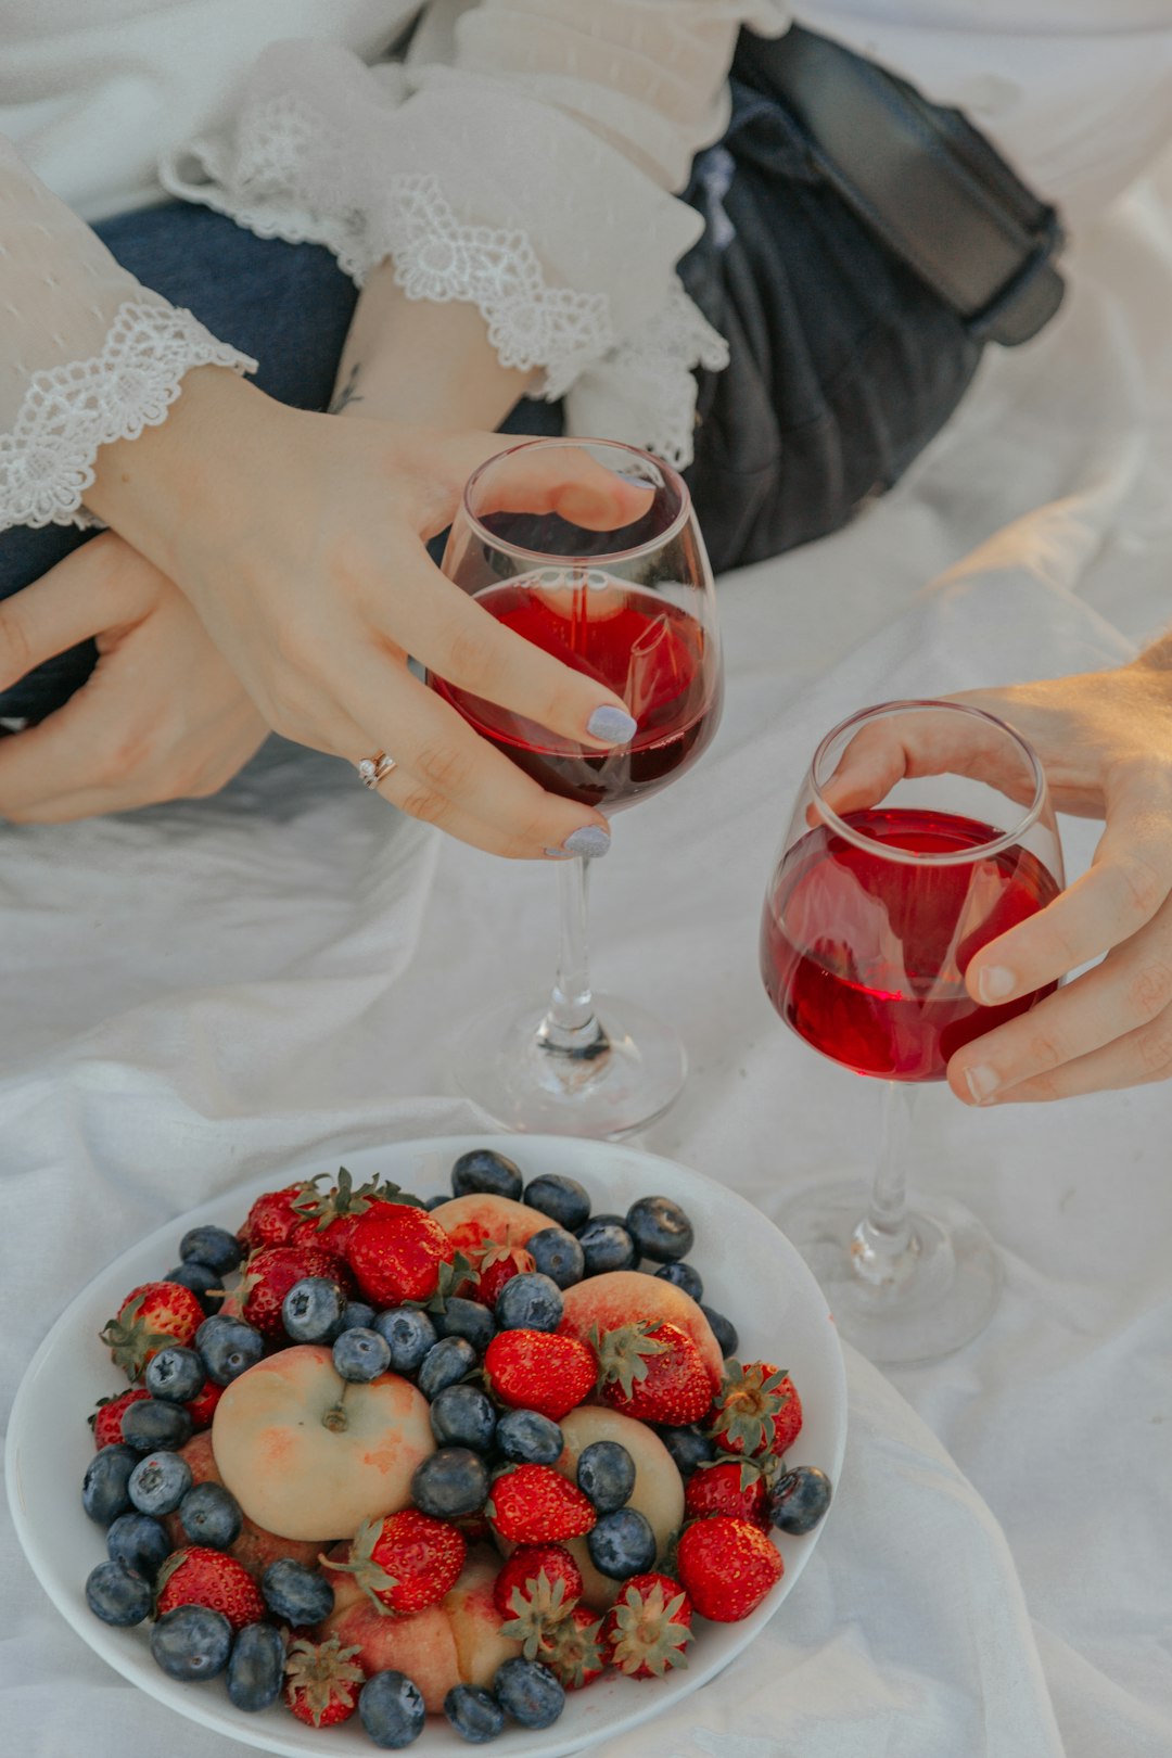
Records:
{"label": "pale whole peach with stem dimple, topmost on the fruit plate", "polygon": [[316,1343],[283,1348],[232,1380],[211,1443],[257,1526],[318,1544],[406,1508],[411,1473],[436,1450],[422,1392],[397,1373],[350,1384]]}

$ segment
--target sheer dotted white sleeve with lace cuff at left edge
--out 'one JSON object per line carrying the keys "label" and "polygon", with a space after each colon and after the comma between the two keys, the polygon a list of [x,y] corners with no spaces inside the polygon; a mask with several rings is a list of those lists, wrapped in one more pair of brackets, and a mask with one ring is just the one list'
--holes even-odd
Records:
{"label": "sheer dotted white sleeve with lace cuff at left edge", "polygon": [[0,531],[93,524],[98,447],[165,420],[192,366],[255,366],[125,274],[2,139],[0,308]]}

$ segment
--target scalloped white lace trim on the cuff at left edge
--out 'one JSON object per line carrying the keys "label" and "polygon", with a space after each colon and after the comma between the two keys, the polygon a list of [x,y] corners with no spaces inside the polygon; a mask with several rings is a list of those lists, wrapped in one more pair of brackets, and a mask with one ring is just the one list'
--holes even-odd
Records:
{"label": "scalloped white lace trim on the cuff at left edge", "polygon": [[0,434],[0,529],[97,524],[81,503],[98,447],[165,422],[193,366],[257,371],[190,311],[132,299],[98,355],[33,373],[12,432]]}

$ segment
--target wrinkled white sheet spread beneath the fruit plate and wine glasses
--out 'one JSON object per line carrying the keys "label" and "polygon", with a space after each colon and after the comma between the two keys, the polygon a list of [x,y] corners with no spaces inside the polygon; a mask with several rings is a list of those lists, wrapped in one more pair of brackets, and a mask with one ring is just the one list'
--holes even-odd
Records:
{"label": "wrinkled white sheet spread beneath the fruit plate and wine glasses", "polygon": [[[1170,394],[1172,227],[1149,186],[1084,243],[1061,322],[988,362],[896,494],[722,584],[719,742],[619,823],[594,888],[599,986],[654,1002],[692,1053],[650,1148],[768,1213],[866,1162],[877,1088],[791,1037],[756,969],[792,789],[866,701],[1111,663],[1167,619]],[[1095,832],[1067,830],[1077,872]],[[550,974],[553,883],[278,747],[218,802],[0,830],[0,946],[7,1410],[130,1238],[295,1155],[467,1127],[413,1095],[445,1092],[469,1009]],[[937,1366],[886,1380],[850,1357],[847,1466],[799,1589],[604,1758],[1172,1753],[1170,1120],[1168,1088],[979,1115],[924,1093],[926,1183],[991,1227],[1003,1304]],[[90,1654],[7,1515],[0,1580],[5,1751],[242,1754]]]}

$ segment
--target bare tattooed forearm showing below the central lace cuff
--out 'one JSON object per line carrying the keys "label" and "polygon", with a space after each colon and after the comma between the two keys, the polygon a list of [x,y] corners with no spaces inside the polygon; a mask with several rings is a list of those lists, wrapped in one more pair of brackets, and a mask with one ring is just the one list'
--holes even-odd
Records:
{"label": "bare tattooed forearm showing below the central lace cuff", "polygon": [[330,411],[492,431],[531,381],[501,366],[476,306],[408,299],[383,262],[358,299]]}

